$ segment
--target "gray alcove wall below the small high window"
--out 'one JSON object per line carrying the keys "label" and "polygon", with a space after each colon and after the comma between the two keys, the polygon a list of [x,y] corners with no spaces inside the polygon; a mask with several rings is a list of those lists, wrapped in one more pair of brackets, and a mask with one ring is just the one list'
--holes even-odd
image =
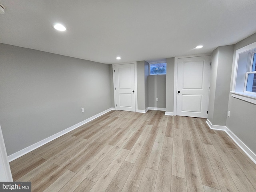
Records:
{"label": "gray alcove wall below the small high window", "polygon": [[166,108],[166,75],[148,76],[148,107]]}

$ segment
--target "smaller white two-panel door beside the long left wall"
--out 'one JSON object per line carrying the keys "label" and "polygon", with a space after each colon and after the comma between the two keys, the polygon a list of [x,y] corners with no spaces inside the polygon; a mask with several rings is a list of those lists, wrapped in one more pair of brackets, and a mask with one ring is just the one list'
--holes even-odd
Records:
{"label": "smaller white two-panel door beside the long left wall", "polygon": [[134,63],[114,66],[116,109],[135,112]]}

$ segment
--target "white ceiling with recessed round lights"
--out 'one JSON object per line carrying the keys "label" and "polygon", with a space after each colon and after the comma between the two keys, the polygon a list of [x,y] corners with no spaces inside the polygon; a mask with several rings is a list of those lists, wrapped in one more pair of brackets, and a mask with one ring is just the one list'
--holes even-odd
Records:
{"label": "white ceiling with recessed round lights", "polygon": [[[0,42],[107,64],[211,53],[256,32],[256,0],[0,0]],[[60,22],[66,32],[52,25]],[[202,49],[195,49],[203,45]],[[120,56],[121,60],[116,60]]]}

